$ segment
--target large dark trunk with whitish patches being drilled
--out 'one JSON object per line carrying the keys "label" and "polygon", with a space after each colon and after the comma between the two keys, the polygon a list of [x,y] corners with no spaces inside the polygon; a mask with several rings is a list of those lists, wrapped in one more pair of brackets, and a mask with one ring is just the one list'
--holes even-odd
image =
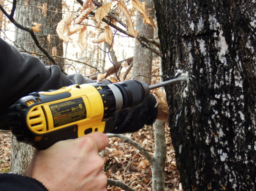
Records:
{"label": "large dark trunk with whitish patches being drilled", "polygon": [[183,190],[256,190],[254,1],[154,2]]}

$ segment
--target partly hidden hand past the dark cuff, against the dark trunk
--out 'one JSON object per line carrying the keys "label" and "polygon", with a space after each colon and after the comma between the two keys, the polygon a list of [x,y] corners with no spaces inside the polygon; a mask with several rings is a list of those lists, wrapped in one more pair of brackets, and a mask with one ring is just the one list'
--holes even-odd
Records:
{"label": "partly hidden hand past the dark cuff, against the dark trunk", "polygon": [[155,91],[153,95],[158,107],[156,119],[168,122],[168,105],[165,91]]}

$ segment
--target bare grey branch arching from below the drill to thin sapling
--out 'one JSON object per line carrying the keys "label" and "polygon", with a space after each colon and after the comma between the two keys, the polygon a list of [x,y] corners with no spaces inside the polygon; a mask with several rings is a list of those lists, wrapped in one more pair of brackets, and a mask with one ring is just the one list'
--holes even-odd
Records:
{"label": "bare grey branch arching from below the drill to thin sapling", "polygon": [[122,139],[126,143],[131,144],[132,146],[137,148],[140,152],[142,152],[142,154],[145,156],[145,158],[151,163],[151,160],[153,159],[152,156],[146,151],[145,148],[143,148],[140,144],[138,144],[134,140],[131,140],[130,138],[128,138],[127,136],[124,136],[122,134],[111,134],[111,133],[109,133],[109,134],[107,134],[107,136],[109,138],[110,137],[119,137],[120,139]]}

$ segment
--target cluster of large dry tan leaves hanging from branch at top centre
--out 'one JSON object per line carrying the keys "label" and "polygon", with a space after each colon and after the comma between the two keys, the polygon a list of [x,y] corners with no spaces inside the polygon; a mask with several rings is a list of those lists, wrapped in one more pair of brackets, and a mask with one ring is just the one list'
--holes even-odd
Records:
{"label": "cluster of large dry tan leaves hanging from branch at top centre", "polygon": [[[134,38],[138,37],[139,31],[134,29],[134,23],[131,19],[131,13],[129,12],[126,4],[122,1],[114,1],[117,2],[116,6],[118,8],[118,14],[121,18],[126,20],[126,33],[128,35],[133,36]],[[112,8],[113,1],[110,3],[103,4],[101,7],[97,8],[95,12],[95,19],[98,25],[101,23],[102,19],[108,15]],[[132,0],[132,6],[138,10],[140,15],[143,18],[143,23],[150,24],[155,29],[154,21],[150,16],[146,3],[140,0]],[[64,40],[65,42],[69,41],[69,36],[75,33],[78,34],[78,46],[81,48],[83,52],[86,46],[86,22],[85,19],[89,15],[91,11],[95,8],[93,4],[93,0],[85,0],[82,6],[81,14],[75,19],[75,14],[71,13],[66,15],[64,19],[60,21],[57,25],[57,34],[59,38]],[[103,26],[104,31],[98,36],[97,39],[93,40],[93,43],[103,43],[106,42],[110,45],[113,45],[113,32],[110,26]]]}

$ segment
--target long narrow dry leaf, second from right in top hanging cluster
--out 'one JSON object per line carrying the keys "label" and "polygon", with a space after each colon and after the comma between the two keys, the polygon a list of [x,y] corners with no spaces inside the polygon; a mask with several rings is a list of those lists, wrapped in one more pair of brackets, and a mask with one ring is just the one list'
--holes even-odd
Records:
{"label": "long narrow dry leaf, second from right in top hanging cluster", "polygon": [[118,10],[120,11],[120,13],[122,14],[122,16],[124,16],[126,18],[127,34],[134,36],[134,38],[137,38],[139,31],[134,30],[134,25],[130,18],[130,15],[129,15],[129,12],[128,12],[128,9],[127,9],[125,3],[123,1],[118,1],[117,7],[118,7]]}

